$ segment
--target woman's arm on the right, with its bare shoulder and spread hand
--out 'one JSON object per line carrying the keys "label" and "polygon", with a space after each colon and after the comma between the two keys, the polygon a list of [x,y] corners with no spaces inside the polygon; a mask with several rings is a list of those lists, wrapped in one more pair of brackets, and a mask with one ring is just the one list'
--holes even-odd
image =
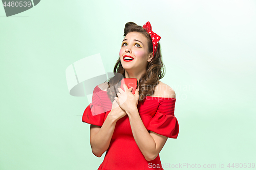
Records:
{"label": "woman's arm on the right, with its bare shoulder and spread hand", "polygon": [[[147,161],[154,160],[162,150],[167,137],[154,132],[148,133],[137,108],[139,89],[135,91],[134,95],[131,92],[127,92],[127,86],[125,84],[123,88],[124,91],[118,88],[118,98],[115,98],[115,100],[118,105],[126,111],[129,117],[132,133],[141,153]],[[158,94],[161,95],[161,98],[169,98],[170,96],[175,98],[175,92],[172,88],[168,88],[167,90],[160,88],[156,90]]]}

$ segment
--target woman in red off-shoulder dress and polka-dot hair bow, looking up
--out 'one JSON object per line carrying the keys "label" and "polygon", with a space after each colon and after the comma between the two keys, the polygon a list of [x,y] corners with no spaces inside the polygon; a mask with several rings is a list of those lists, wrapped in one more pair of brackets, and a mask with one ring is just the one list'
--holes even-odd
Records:
{"label": "woman in red off-shoulder dress and polka-dot hair bow, looking up", "polygon": [[[160,38],[150,22],[143,27],[127,22],[115,76],[94,88],[82,122],[91,124],[93,154],[106,151],[98,170],[163,169],[159,153],[168,137],[177,138],[179,125],[175,92],[159,81],[164,76]],[[135,94],[126,85],[120,88],[122,78],[137,79]]]}

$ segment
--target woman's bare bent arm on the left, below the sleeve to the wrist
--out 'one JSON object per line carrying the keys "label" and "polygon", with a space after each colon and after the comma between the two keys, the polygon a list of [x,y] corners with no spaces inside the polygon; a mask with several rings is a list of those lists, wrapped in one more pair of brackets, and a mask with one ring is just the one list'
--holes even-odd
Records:
{"label": "woman's bare bent arm on the left, below the sleeve to the wrist", "polygon": [[93,154],[97,157],[101,157],[101,155],[108,150],[116,126],[117,119],[111,116],[111,112],[106,117],[101,127],[91,125],[90,128],[91,148]]}

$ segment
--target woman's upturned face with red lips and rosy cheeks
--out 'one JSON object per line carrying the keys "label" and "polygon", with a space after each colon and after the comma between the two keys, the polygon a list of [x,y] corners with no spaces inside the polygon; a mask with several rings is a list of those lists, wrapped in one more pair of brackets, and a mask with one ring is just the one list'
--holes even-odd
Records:
{"label": "woman's upturned face with red lips and rosy cheeks", "polygon": [[[148,53],[147,41],[147,38],[139,32],[131,32],[124,37],[119,56],[125,70],[146,69],[147,62],[150,62],[153,57],[153,52]],[[125,60],[124,57],[131,57],[133,60]]]}

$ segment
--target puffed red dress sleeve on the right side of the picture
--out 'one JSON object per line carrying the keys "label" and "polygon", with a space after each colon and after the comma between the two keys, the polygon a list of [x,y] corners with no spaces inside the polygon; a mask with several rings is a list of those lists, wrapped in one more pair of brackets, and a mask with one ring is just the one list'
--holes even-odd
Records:
{"label": "puffed red dress sleeve on the right side of the picture", "polygon": [[146,129],[176,139],[179,133],[179,124],[174,116],[175,102],[175,98],[164,98],[160,101],[157,112]]}

